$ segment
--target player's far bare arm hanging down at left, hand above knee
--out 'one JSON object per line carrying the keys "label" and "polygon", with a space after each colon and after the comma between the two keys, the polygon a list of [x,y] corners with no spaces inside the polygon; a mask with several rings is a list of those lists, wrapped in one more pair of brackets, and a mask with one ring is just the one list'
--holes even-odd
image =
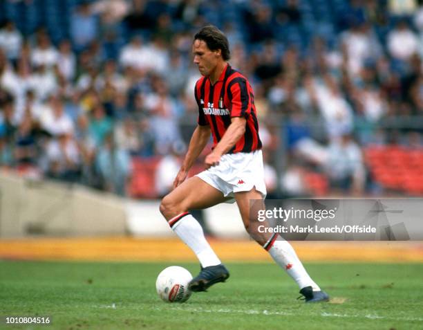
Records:
{"label": "player's far bare arm hanging down at left, hand above knee", "polygon": [[178,187],[187,178],[188,171],[196,161],[197,157],[201,154],[210,138],[210,127],[209,125],[198,125],[194,130],[189,141],[188,151],[185,155],[185,159],[180,167],[178,175],[173,181],[173,189]]}

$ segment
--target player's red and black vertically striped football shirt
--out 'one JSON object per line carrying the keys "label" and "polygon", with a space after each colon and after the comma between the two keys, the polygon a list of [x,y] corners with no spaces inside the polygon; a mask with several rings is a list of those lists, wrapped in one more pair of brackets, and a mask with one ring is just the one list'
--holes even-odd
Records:
{"label": "player's red and black vertically striped football shirt", "polygon": [[261,149],[259,121],[254,105],[254,93],[248,80],[227,64],[219,79],[212,84],[208,77],[196,82],[198,125],[209,125],[216,147],[229,125],[231,118],[244,117],[247,122],[245,134],[227,152],[254,152]]}

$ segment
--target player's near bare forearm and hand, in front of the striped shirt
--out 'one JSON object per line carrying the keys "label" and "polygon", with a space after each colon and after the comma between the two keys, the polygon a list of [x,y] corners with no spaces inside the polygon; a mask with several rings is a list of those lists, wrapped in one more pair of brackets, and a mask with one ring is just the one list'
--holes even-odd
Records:
{"label": "player's near bare forearm and hand, in front of the striped shirt", "polygon": [[206,167],[218,165],[220,157],[229,152],[232,147],[245,134],[245,125],[247,120],[244,117],[234,117],[231,125],[227,127],[219,143],[213,149],[213,152],[205,158]]}

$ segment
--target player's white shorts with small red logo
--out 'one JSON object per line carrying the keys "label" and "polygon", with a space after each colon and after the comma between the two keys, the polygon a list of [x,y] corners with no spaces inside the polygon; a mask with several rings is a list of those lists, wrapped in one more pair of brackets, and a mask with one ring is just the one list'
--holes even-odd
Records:
{"label": "player's white shorts with small red logo", "polygon": [[[220,158],[219,165],[196,176],[220,190],[225,197],[234,197],[234,192],[249,192],[253,187],[261,192],[263,199],[267,194],[261,150],[225,154]],[[227,203],[234,203],[234,199]]]}

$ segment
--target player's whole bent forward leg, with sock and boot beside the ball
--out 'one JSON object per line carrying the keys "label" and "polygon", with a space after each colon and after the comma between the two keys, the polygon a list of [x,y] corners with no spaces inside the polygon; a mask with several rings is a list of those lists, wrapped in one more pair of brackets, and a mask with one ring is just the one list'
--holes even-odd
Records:
{"label": "player's whole bent forward leg, with sock and boot beside the ball", "polygon": [[224,282],[229,272],[220,262],[207,242],[200,223],[189,213],[223,203],[225,197],[220,190],[194,176],[176,187],[160,204],[160,212],[172,230],[193,250],[202,271],[189,284],[192,291],[205,291],[209,286]]}

